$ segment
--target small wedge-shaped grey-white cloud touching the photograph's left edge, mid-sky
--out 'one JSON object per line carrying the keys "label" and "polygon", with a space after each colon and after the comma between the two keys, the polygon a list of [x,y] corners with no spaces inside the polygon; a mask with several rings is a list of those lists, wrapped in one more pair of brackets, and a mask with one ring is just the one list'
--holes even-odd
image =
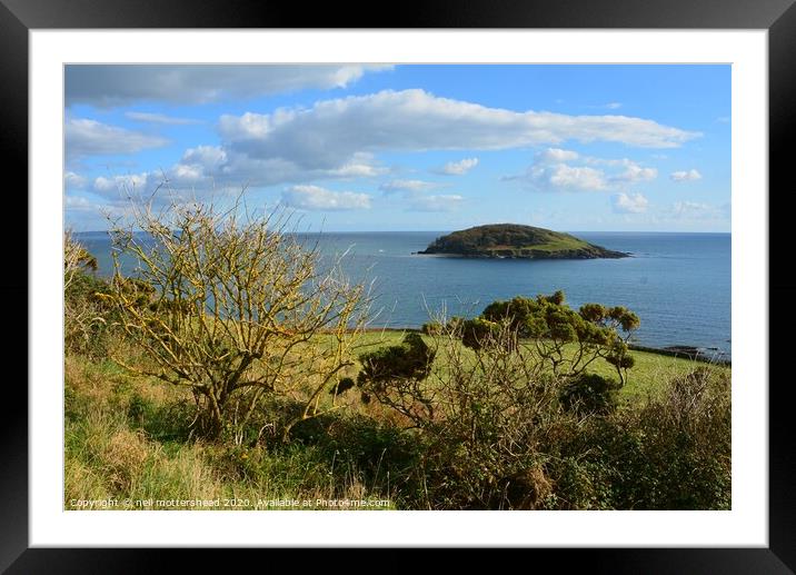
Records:
{"label": "small wedge-shaped grey-white cloud touching the photograph's left edge, mid-sky", "polygon": [[86,156],[136,153],[168,143],[168,140],[158,136],[148,136],[82,118],[67,120],[64,131],[68,160]]}

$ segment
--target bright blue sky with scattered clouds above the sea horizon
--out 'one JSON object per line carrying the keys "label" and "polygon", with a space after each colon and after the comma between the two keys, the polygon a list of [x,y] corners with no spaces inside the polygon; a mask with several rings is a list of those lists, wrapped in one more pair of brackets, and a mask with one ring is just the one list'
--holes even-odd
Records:
{"label": "bright blue sky with scattered clouds above the sea horizon", "polygon": [[68,66],[66,224],[246,188],[312,230],[729,231],[729,66]]}

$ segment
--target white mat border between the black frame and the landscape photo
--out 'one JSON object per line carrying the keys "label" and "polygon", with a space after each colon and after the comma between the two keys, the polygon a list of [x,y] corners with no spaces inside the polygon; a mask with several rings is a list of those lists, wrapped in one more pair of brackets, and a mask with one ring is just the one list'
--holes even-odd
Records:
{"label": "white mat border between the black frame and the landscape photo", "polygon": [[[767,32],[30,32],[30,545],[767,546]],[[64,62],[732,62],[732,512],[63,512]],[[684,87],[688,89],[688,87]],[[153,513],[157,513],[157,518]]]}

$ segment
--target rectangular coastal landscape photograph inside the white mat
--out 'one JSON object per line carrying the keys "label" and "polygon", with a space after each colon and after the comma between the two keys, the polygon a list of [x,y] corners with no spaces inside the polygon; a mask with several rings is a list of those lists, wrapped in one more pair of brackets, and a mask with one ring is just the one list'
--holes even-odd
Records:
{"label": "rectangular coastal landscape photograph inside the white mat", "polygon": [[733,510],[730,63],[62,70],[63,510]]}

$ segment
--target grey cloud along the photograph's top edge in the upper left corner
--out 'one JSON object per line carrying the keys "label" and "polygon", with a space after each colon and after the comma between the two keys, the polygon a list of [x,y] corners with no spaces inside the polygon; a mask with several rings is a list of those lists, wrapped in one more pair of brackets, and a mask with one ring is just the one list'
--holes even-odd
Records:
{"label": "grey cloud along the photograph's top edge in the upper left corner", "polygon": [[67,106],[209,103],[307,88],[345,88],[380,65],[70,65]]}

